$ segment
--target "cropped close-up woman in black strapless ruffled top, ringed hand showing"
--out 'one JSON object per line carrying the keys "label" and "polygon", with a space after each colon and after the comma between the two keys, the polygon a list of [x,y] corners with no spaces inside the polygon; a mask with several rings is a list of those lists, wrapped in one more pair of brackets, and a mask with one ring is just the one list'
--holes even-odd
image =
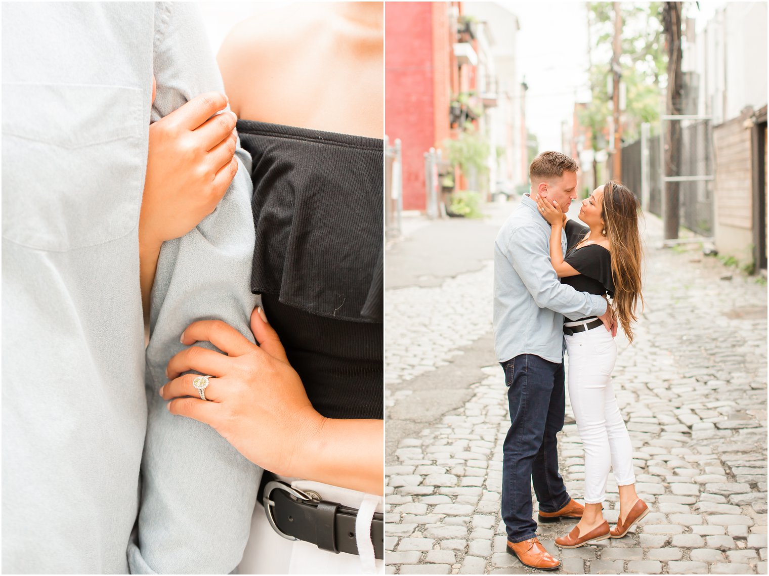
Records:
{"label": "cropped close-up woman in black strapless ruffled top, ringed hand showing", "polygon": [[[161,396],[280,483],[255,508],[241,573],[383,568],[383,37],[381,4],[291,5],[236,26],[218,57],[231,109],[247,118],[238,132],[253,161],[259,346],[221,322],[193,323],[181,342],[225,355],[185,349]],[[182,375],[193,370],[212,377]],[[276,533],[303,521],[281,526],[278,500],[302,499],[285,494],[342,504],[331,528],[318,527],[329,540]],[[345,514],[355,528],[332,538]]]}

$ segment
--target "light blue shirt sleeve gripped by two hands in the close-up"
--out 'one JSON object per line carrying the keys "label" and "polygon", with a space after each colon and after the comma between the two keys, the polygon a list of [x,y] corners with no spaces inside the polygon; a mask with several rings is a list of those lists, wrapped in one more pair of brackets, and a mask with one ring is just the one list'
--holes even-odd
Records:
{"label": "light blue shirt sleeve gripped by two hands in the close-up", "polygon": [[[196,11],[187,3],[155,5],[155,119],[202,92],[223,91]],[[165,242],[158,259],[138,534],[128,548],[134,574],[228,573],[248,541],[261,468],[208,425],[171,415],[158,395],[168,381],[168,360],[185,348],[179,338],[192,321],[221,319],[253,341],[251,162],[239,142],[237,157],[238,173],[215,211],[184,237]]]}

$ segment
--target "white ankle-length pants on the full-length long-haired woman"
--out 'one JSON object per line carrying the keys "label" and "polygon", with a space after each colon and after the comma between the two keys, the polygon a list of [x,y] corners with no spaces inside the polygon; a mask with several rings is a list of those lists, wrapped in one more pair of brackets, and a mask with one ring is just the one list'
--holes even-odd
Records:
{"label": "white ankle-length pants on the full-length long-haired woman", "polygon": [[603,326],[565,338],[569,401],[584,445],[584,501],[598,504],[606,498],[610,465],[618,485],[635,483],[633,447],[611,387],[617,345]]}

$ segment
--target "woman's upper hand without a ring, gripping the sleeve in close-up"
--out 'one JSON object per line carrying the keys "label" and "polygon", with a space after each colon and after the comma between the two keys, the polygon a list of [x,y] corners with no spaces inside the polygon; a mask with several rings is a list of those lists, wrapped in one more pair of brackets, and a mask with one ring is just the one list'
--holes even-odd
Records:
{"label": "woman's upper hand without a ring, gripping the sleeve in close-up", "polygon": [[233,112],[215,115],[227,98],[208,92],[149,127],[139,245],[179,238],[211,214],[238,171]]}

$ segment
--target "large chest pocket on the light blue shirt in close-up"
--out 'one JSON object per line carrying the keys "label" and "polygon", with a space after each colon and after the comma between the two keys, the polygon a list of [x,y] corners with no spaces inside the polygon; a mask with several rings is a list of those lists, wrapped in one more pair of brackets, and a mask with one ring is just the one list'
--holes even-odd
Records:
{"label": "large chest pocket on the light blue shirt in close-up", "polygon": [[147,161],[139,88],[8,83],[2,95],[3,238],[67,251],[137,227]]}

